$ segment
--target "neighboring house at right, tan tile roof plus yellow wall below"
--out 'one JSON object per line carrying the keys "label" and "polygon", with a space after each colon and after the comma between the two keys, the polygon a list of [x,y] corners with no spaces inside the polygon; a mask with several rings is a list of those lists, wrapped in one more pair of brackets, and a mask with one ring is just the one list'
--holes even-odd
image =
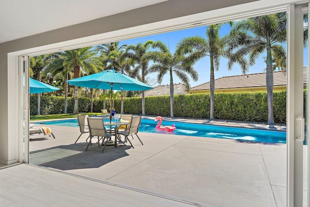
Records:
{"label": "neighboring house at right, tan tile roof plus yellow wall below", "polygon": [[[308,76],[308,67],[303,68],[304,89],[306,89]],[[286,91],[287,75],[286,71],[274,72],[274,91]],[[254,73],[239,76],[226,76],[215,80],[215,93],[233,93],[233,92],[257,92],[266,90],[266,73]],[[210,82],[202,83],[192,87],[190,94],[210,93]]]}

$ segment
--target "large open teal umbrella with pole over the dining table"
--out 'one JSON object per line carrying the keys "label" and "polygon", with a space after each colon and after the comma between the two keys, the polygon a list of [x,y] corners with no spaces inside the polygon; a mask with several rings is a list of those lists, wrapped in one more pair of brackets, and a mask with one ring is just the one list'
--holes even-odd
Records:
{"label": "large open teal umbrella with pole over the dining table", "polygon": [[[104,70],[99,73],[95,73],[89,76],[83,76],[73,80],[67,80],[72,86],[82,86],[87,88],[97,89],[111,89],[112,90],[124,90],[124,91],[146,91],[152,89],[149,86],[139,80],[133,79],[122,73],[114,70],[111,67],[110,70]],[[110,107],[112,108],[112,93],[110,98]],[[112,113],[110,113],[110,121],[112,119]]]}

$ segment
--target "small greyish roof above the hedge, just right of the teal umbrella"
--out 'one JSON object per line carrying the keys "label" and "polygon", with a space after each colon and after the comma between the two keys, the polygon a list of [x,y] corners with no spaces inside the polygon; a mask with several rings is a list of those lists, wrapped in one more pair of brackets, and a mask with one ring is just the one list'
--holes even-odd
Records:
{"label": "small greyish roof above the hedge, just right of the teal umbrella", "polygon": [[[186,90],[186,86],[183,83],[174,84],[173,85],[173,94],[174,95],[183,95],[188,94]],[[151,90],[147,90],[144,92],[146,96],[163,96],[170,95],[170,85],[158,85]],[[139,95],[141,96],[141,95]]]}

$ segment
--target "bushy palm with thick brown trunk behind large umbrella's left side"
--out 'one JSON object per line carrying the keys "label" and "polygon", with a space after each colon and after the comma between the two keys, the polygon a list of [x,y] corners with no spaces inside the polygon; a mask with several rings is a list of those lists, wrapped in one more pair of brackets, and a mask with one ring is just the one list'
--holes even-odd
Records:
{"label": "bushy palm with thick brown trunk behind large umbrella's left side", "polygon": [[[59,52],[60,59],[53,59],[51,69],[53,71],[63,70],[65,74],[73,72],[73,78],[79,78],[81,75],[90,75],[97,73],[102,68],[97,51],[91,47],[79,48]],[[74,114],[78,114],[78,86],[74,87]]]}

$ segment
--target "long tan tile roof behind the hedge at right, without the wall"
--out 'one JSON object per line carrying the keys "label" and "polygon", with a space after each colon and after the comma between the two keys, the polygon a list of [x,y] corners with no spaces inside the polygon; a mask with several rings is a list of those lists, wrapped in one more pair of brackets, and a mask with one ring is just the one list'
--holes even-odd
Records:
{"label": "long tan tile roof behind the hedge at right, without the wall", "polygon": [[[304,84],[308,82],[307,67],[304,67]],[[275,71],[273,73],[274,86],[286,85],[286,71]],[[266,73],[254,73],[238,76],[226,76],[215,80],[215,89],[248,88],[266,86]],[[190,91],[210,90],[210,81],[194,86]]]}

